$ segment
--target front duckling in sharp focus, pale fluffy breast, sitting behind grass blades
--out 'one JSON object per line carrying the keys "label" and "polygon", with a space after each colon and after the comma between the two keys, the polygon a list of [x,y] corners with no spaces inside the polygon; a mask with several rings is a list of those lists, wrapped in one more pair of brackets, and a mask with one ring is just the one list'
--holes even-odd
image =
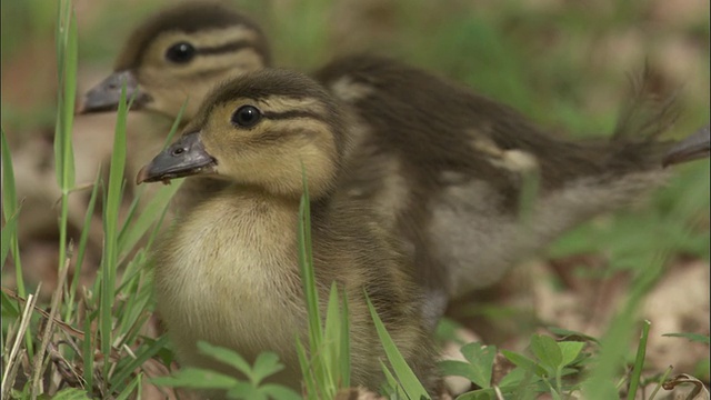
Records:
{"label": "front duckling in sharp focus, pale fluffy breast, sitting behind grass blades", "polygon": [[237,373],[199,354],[198,340],[252,361],[270,350],[287,367],[277,381],[299,388],[294,338],[307,334],[297,249],[303,166],[320,299],[333,281],[348,293],[352,382],[377,390],[383,378],[364,289],[432,389],[413,271],[369,202],[336,190],[347,174],[346,118],[337,100],[302,74],[249,72],[216,89],[182,138],[140,171],[139,183],[199,174],[228,182],[179,217],[154,254],[158,310],[183,362]]}

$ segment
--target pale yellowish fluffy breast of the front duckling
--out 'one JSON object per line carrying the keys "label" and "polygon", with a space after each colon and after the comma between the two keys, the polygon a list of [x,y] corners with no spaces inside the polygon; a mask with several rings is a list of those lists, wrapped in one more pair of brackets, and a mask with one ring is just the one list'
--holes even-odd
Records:
{"label": "pale yellowish fluffy breast of the front duckling", "polygon": [[183,361],[206,363],[196,354],[198,340],[248,360],[267,349],[296,357],[304,321],[297,216],[291,204],[228,190],[164,239],[157,252],[158,309]]}

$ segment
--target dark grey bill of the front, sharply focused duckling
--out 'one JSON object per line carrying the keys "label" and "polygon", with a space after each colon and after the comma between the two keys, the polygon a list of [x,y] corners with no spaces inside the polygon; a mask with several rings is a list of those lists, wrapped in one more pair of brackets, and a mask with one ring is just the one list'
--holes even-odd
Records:
{"label": "dark grey bill of the front, sharply focused duckling", "polygon": [[217,160],[206,151],[200,132],[192,132],[184,134],[141,168],[136,184],[167,183],[171,179],[206,173],[217,173]]}

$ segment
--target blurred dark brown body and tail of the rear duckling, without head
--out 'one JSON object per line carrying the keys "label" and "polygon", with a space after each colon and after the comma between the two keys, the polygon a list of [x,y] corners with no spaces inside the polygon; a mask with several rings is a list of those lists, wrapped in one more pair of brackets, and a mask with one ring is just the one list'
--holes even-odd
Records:
{"label": "blurred dark brown body and tail of the rear duckling, without head", "polygon": [[[357,114],[350,180],[414,254],[431,316],[497,282],[573,226],[664,182],[673,99],[638,79],[609,141],[553,137],[515,110],[431,73],[379,57],[350,57],[316,73]],[[523,188],[538,198],[522,214]]]}

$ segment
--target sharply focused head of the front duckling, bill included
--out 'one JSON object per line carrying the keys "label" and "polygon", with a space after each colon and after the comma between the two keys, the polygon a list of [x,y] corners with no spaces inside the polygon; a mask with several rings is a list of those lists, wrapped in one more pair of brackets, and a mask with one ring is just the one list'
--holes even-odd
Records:
{"label": "sharply focused head of the front duckling, bill included", "polygon": [[347,137],[339,106],[312,79],[287,70],[237,77],[208,97],[182,138],[143,167],[138,183],[211,173],[274,196],[329,193]]}

